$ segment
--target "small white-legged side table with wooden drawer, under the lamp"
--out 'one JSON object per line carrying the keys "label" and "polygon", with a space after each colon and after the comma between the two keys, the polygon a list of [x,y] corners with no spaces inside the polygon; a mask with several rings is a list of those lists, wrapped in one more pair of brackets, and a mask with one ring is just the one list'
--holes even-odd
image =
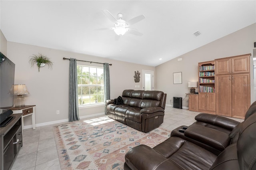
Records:
{"label": "small white-legged side table with wooden drawer, under the lamp", "polygon": [[32,115],[32,127],[35,130],[36,129],[36,121],[35,121],[35,106],[36,105],[26,105],[24,107],[12,107],[10,108],[13,111],[13,114],[16,113],[23,113],[22,115],[22,134],[24,129],[24,123],[23,119],[26,116]]}

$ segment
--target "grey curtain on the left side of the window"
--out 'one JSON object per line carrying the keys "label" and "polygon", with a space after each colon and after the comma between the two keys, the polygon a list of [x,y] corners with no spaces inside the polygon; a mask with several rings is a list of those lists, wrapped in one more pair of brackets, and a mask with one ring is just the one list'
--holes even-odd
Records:
{"label": "grey curtain on the left side of the window", "polygon": [[68,121],[79,121],[76,59],[70,58],[69,63],[69,111]]}

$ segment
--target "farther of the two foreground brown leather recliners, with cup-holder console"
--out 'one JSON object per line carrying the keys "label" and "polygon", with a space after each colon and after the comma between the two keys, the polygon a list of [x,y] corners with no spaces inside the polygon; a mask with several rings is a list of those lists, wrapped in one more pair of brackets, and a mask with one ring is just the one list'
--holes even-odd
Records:
{"label": "farther of the two foreground brown leather recliners, with cup-holder console", "polygon": [[[256,113],[256,102],[252,103],[245,115],[245,120]],[[218,155],[230,144],[236,143],[239,131],[244,124],[226,117],[200,113],[195,117],[195,123],[178,127],[171,132],[171,136],[177,136],[189,140],[210,152]]]}

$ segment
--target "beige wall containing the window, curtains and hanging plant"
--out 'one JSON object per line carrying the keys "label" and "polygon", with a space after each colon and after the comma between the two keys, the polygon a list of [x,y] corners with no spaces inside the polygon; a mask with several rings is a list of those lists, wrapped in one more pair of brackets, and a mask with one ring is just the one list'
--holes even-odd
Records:
{"label": "beige wall containing the window, curtains and hanging plant", "polygon": [[[134,71],[138,70],[142,73],[142,69],[145,69],[155,72],[155,67],[151,66],[15,42],[7,42],[7,51],[8,57],[16,64],[15,84],[26,84],[30,92],[29,95],[24,95],[24,97],[26,97],[26,105],[36,105],[36,124],[68,119],[69,61],[63,60],[63,57],[111,63],[111,99],[122,95],[124,89],[141,89],[135,88],[135,85],[142,87],[142,79],[139,83],[135,83],[133,78]],[[38,52],[52,59],[54,62],[52,70],[45,66],[38,72],[38,67],[30,67],[28,62],[29,57],[32,54],[38,54]],[[85,62],[78,62],[78,64],[91,65]],[[98,66],[102,67],[101,64],[98,64]],[[56,115],[56,110],[60,111],[60,115]],[[93,115],[96,113],[104,113],[104,105],[79,109],[80,116]],[[31,124],[32,121],[30,118],[24,119],[25,126]]]}

